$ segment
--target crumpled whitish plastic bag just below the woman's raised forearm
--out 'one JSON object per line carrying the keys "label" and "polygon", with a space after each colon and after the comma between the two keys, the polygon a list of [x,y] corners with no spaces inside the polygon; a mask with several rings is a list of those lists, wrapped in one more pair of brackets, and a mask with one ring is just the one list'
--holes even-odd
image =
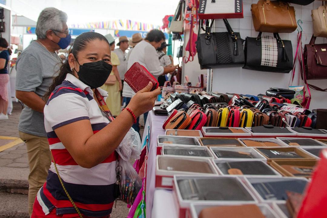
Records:
{"label": "crumpled whitish plastic bag just below the woman's raised forearm", "polygon": [[129,159],[140,159],[140,135],[133,128],[130,128],[122,142],[116,148],[116,151],[119,154],[120,158],[123,160],[128,161]]}

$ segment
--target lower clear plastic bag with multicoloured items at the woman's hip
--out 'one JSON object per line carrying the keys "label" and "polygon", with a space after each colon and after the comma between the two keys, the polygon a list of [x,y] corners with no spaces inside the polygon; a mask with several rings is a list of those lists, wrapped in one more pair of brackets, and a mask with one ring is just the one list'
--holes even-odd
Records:
{"label": "lower clear plastic bag with multicoloured items at the woman's hip", "polygon": [[142,180],[128,160],[120,159],[117,169],[121,171],[119,200],[132,205],[142,188]]}

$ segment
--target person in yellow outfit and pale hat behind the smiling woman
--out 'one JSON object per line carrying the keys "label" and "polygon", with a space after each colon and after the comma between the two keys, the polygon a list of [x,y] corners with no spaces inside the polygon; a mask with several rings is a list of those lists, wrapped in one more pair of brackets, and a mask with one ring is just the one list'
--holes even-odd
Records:
{"label": "person in yellow outfit and pale hat behind the smiling woman", "polygon": [[[115,39],[112,37],[111,34],[107,34],[104,36],[109,44],[111,49],[111,63],[112,63],[112,71],[110,75],[115,75],[116,81],[112,84],[112,81],[107,80],[107,82],[101,86],[100,88],[108,92],[108,97],[106,99],[106,104],[110,109],[113,116],[118,116],[120,113],[120,91],[123,89],[122,81],[120,80],[120,76],[117,70],[117,66],[119,66],[120,61],[118,56],[113,52],[115,49]],[[109,76],[108,79],[112,77]]]}

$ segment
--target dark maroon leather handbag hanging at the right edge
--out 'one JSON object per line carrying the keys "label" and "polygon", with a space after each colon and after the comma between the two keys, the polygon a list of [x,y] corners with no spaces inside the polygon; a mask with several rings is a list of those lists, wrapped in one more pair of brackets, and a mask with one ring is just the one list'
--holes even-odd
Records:
{"label": "dark maroon leather handbag hanging at the right edge", "polygon": [[[304,45],[304,69],[306,79],[327,79],[327,44],[315,44],[315,36],[311,37],[310,43]],[[319,90],[318,87],[311,88]],[[317,89],[318,88],[318,89]],[[320,89],[319,91],[327,91]]]}

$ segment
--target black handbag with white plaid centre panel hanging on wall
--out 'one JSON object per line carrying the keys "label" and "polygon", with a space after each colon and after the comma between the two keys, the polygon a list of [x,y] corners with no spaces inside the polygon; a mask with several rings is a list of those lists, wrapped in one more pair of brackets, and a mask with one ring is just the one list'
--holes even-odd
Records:
{"label": "black handbag with white plaid centre panel hanging on wall", "polygon": [[289,73],[293,69],[292,42],[282,40],[278,33],[257,38],[247,37],[245,40],[244,69],[274,73]]}

